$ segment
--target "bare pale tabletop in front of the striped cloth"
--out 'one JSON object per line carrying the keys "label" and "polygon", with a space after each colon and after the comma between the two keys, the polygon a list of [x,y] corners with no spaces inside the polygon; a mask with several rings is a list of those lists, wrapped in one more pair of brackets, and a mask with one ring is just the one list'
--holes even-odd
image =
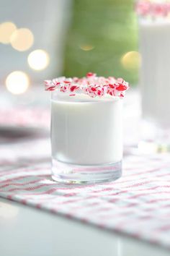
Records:
{"label": "bare pale tabletop in front of the striped cloth", "polygon": [[168,256],[169,251],[0,197],[0,255]]}

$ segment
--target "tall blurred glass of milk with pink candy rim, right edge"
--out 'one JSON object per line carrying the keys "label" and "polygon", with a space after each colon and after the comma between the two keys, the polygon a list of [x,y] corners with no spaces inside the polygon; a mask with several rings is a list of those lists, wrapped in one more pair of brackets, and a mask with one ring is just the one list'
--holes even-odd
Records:
{"label": "tall blurred glass of milk with pink candy rim, right edge", "polygon": [[[142,145],[154,151],[170,145],[169,1],[138,1]],[[154,144],[154,145],[153,145]],[[141,145],[141,143],[140,143]]]}

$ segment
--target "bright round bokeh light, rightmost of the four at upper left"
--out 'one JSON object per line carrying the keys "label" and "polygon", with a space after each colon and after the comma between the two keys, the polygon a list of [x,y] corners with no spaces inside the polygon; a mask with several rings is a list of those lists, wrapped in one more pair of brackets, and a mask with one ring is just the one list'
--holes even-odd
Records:
{"label": "bright round bokeh light, rightmost of the four at upper left", "polygon": [[46,51],[38,49],[29,54],[27,61],[32,69],[42,70],[48,67],[50,58]]}

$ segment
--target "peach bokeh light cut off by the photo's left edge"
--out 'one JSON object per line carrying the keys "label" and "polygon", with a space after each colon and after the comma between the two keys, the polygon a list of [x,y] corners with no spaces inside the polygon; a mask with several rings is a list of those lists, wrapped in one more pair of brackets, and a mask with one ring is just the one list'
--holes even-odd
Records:
{"label": "peach bokeh light cut off by the photo's left edge", "polygon": [[4,22],[0,24],[0,43],[10,43],[10,37],[17,27],[12,22]]}

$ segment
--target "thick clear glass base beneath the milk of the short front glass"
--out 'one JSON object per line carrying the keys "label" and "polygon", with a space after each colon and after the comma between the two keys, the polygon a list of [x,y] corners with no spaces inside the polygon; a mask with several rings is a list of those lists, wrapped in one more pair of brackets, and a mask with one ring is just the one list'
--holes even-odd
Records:
{"label": "thick clear glass base beneath the milk of the short front glass", "polygon": [[73,165],[52,159],[52,179],[64,184],[111,182],[122,176],[122,161],[103,165]]}

